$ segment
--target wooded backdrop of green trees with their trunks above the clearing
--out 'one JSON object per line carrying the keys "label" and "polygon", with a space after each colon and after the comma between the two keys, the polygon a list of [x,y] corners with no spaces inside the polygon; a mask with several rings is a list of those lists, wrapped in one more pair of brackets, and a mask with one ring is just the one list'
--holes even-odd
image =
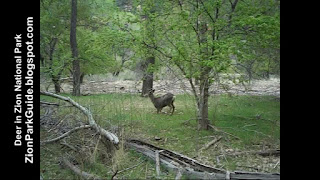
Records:
{"label": "wooded backdrop of green trees with their trunks above the clearing", "polygon": [[[200,129],[208,128],[209,87],[221,74],[241,81],[280,75],[278,0],[42,0],[41,72],[56,93],[72,76],[80,96],[86,74],[174,67],[191,85]],[[195,85],[199,85],[196,87]]]}

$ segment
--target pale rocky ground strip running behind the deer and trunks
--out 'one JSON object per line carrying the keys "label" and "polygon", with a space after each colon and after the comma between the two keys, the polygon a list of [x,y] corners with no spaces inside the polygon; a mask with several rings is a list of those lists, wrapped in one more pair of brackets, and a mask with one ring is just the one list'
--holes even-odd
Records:
{"label": "pale rocky ground strip running behind the deer and trunks", "polygon": [[[85,80],[81,85],[81,92],[84,95],[100,93],[139,93],[142,88],[142,81],[117,80],[117,81],[94,81]],[[41,90],[53,91],[53,85],[48,82],[41,83]],[[174,94],[192,94],[190,83],[186,80],[156,80],[154,81],[156,93],[171,92]],[[62,92],[70,93],[72,83],[62,84]],[[272,95],[280,97],[280,79],[270,78],[268,80],[254,80],[251,84],[234,84],[225,82],[213,84],[210,87],[211,94],[235,94],[235,95]]]}

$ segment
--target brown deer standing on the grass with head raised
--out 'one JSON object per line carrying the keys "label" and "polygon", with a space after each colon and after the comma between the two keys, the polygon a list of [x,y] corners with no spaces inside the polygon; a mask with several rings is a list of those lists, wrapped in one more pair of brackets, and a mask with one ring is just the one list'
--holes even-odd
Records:
{"label": "brown deer standing on the grass with head raised", "polygon": [[155,91],[154,89],[150,89],[148,95],[154,107],[157,109],[157,114],[159,112],[161,113],[162,108],[169,106],[170,110],[172,109],[172,112],[171,112],[171,115],[172,115],[175,109],[173,105],[175,96],[172,93],[167,93],[161,97],[154,97],[153,95],[154,91]]}

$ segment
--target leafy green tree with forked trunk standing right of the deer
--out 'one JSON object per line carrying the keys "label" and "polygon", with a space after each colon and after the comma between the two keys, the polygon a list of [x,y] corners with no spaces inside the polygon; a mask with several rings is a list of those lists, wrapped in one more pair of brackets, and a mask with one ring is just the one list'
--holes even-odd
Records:
{"label": "leafy green tree with forked trunk standing right of the deer", "polygon": [[[269,1],[269,0],[261,0]],[[241,9],[238,9],[242,2]],[[261,3],[259,2],[259,3]],[[167,1],[162,19],[162,35],[154,47],[159,55],[174,63],[188,79],[197,104],[198,129],[209,127],[209,87],[220,82],[220,74],[230,72],[232,59],[251,32],[245,24],[253,1]],[[270,7],[268,7],[270,8]],[[234,23],[236,21],[236,23]],[[198,79],[199,86],[195,85]]]}

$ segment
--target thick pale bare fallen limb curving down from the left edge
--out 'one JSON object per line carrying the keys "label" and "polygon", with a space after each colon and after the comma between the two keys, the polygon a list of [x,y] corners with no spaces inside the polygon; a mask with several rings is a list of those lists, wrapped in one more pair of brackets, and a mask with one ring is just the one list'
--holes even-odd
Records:
{"label": "thick pale bare fallen limb curving down from the left edge", "polygon": [[97,132],[99,132],[101,135],[103,135],[106,139],[110,140],[113,144],[117,145],[119,143],[119,139],[116,135],[101,128],[93,119],[92,113],[87,108],[81,106],[80,104],[78,104],[77,102],[72,100],[71,98],[60,96],[60,95],[50,93],[50,92],[43,92],[43,91],[40,91],[40,94],[46,95],[46,96],[51,96],[51,97],[58,98],[58,99],[69,102],[70,104],[72,104],[73,106],[78,108],[81,112],[83,112],[88,117],[89,124],[93,129],[95,129]]}

